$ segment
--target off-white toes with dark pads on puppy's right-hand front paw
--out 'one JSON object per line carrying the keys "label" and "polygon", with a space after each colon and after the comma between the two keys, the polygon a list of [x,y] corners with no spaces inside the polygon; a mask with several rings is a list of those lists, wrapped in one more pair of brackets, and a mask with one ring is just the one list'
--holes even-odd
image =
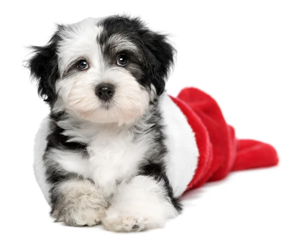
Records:
{"label": "off-white toes with dark pads on puppy's right-hand front paw", "polygon": [[107,230],[116,232],[139,232],[148,229],[149,226],[147,218],[117,212],[108,214],[102,222]]}

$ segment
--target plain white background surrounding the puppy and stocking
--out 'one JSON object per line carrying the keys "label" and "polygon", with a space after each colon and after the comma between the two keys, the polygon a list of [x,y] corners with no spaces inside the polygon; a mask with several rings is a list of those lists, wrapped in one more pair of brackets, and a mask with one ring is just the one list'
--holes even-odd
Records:
{"label": "plain white background surrounding the puppy and stocking", "polygon": [[[277,148],[279,166],[187,193],[184,213],[165,229],[126,234],[53,223],[32,169],[48,109],[22,66],[26,46],[44,45],[54,23],[116,13],[171,34],[178,56],[169,93],[189,85],[210,93],[238,137]],[[3,1],[0,18],[0,249],[296,249],[295,1]]]}

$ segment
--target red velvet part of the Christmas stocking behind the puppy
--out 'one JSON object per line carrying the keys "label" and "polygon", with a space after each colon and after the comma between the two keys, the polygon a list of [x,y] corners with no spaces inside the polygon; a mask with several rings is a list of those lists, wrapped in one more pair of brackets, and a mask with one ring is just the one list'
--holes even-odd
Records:
{"label": "red velvet part of the Christmas stocking behind the puppy", "polygon": [[217,102],[208,94],[190,87],[171,98],[186,116],[199,150],[198,166],[186,190],[221,180],[230,171],[278,164],[271,145],[236,139],[233,127],[227,125]]}

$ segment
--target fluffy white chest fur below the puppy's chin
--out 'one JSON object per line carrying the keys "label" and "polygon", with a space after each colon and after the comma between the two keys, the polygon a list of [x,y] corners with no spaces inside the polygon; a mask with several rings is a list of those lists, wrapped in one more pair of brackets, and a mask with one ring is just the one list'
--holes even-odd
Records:
{"label": "fluffy white chest fur below the puppy's chin", "polygon": [[136,139],[129,130],[100,130],[90,137],[88,157],[79,168],[110,195],[122,179],[137,174],[148,147],[145,138]]}

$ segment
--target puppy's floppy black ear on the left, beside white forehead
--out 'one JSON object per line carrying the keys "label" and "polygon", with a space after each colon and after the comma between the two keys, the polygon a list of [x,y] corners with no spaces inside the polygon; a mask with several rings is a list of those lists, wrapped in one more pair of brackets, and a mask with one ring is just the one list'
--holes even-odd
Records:
{"label": "puppy's floppy black ear on the left, beside white forehead", "polygon": [[59,31],[54,33],[45,46],[32,46],[34,55],[27,62],[31,76],[37,80],[39,96],[49,104],[52,104],[57,98],[55,83],[59,78],[56,53],[58,41]]}

